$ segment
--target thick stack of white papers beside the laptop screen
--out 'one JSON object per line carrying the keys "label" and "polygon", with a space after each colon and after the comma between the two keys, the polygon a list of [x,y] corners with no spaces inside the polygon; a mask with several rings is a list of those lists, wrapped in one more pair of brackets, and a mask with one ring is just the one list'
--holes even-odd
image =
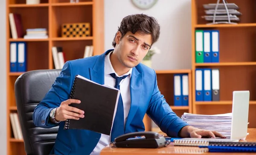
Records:
{"label": "thick stack of white papers beside the laptop screen", "polygon": [[217,131],[226,137],[231,134],[232,113],[219,115],[198,115],[184,113],[181,118],[199,129]]}

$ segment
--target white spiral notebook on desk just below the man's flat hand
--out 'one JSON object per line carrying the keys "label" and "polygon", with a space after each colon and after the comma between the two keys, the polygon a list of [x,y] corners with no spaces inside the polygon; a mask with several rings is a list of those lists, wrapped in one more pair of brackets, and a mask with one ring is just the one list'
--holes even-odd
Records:
{"label": "white spiral notebook on desk just below the man's flat hand", "polygon": [[175,146],[209,146],[213,142],[238,142],[227,138],[181,138],[173,140]]}

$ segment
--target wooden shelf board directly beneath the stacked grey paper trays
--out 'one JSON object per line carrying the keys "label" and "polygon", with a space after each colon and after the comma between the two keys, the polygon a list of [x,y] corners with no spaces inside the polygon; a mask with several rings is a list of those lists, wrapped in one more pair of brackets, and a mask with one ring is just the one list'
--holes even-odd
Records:
{"label": "wooden shelf board directly beneath the stacked grey paper trays", "polygon": [[256,23],[239,23],[239,24],[214,24],[214,25],[206,25],[206,24],[196,24],[195,28],[214,28],[214,27],[253,27],[256,26]]}

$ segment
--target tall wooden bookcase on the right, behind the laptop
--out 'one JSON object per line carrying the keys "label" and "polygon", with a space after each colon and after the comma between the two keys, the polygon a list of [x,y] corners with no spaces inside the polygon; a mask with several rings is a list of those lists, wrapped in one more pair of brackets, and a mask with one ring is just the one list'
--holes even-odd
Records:
{"label": "tall wooden bookcase on the right, behind the laptop", "polygon": [[[217,0],[192,0],[192,111],[196,114],[221,114],[232,112],[233,91],[249,90],[249,128],[256,122],[256,1],[228,0],[236,3],[242,13],[238,24],[208,23],[203,4],[216,3]],[[222,3],[222,0],[220,1]],[[195,30],[219,30],[219,63],[195,63]],[[220,82],[219,101],[195,100],[195,69],[218,68]]]}

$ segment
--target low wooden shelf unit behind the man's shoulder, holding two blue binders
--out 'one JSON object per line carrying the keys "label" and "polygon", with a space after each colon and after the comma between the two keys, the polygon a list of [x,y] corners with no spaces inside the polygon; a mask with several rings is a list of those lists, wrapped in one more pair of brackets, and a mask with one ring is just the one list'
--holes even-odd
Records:
{"label": "low wooden shelf unit behind the man's shoulder, holding two blue binders", "polygon": [[[175,74],[188,74],[189,78],[189,106],[174,106],[174,75]],[[184,112],[192,113],[192,72],[191,69],[179,69],[179,70],[156,70],[157,85],[161,94],[166,99],[166,102],[170,105],[172,110],[181,117]],[[145,131],[159,132],[159,127],[154,127],[152,120],[145,115],[143,119],[145,125]],[[153,127],[152,127],[153,126]]]}

